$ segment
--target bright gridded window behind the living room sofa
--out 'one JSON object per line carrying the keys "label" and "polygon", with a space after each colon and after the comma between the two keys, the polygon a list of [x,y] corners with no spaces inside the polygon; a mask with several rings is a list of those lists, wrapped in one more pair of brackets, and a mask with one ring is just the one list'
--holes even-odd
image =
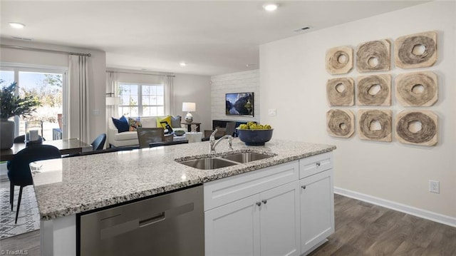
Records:
{"label": "bright gridded window behind the living room sofa", "polygon": [[119,83],[123,116],[165,116],[165,88],[162,84]]}

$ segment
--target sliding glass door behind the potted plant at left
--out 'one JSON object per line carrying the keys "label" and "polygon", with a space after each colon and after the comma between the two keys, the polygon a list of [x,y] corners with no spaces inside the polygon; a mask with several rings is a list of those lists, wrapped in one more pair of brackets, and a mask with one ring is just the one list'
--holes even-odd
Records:
{"label": "sliding glass door behind the potted plant at left", "polygon": [[56,140],[66,138],[68,130],[65,126],[66,113],[66,71],[41,69],[41,68],[18,68],[1,67],[1,86],[6,86],[16,81],[18,83],[17,94],[31,95],[38,98],[41,106],[28,118],[16,116],[15,136],[25,134],[26,121],[41,121],[43,123],[43,138]]}

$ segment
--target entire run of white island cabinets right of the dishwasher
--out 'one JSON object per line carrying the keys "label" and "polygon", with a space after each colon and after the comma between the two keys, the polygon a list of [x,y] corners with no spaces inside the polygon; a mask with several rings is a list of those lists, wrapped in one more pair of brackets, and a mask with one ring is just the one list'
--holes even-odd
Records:
{"label": "entire run of white island cabinets right of the dishwasher", "polygon": [[334,232],[332,153],[204,183],[207,256],[306,255]]}

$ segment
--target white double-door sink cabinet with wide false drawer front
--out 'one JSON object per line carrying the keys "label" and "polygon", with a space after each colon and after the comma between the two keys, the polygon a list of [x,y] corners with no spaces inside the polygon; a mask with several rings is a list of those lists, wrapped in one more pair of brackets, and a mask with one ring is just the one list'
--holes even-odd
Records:
{"label": "white double-door sink cabinet with wide false drawer front", "polygon": [[299,255],[298,169],[294,161],[204,184],[206,255]]}

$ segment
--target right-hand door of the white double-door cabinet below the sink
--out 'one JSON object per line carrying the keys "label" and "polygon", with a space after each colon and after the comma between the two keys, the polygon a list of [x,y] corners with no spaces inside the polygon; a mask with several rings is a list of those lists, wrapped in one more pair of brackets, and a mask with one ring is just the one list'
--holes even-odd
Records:
{"label": "right-hand door of the white double-door cabinet below the sink", "polygon": [[261,256],[300,255],[299,180],[260,193]]}

